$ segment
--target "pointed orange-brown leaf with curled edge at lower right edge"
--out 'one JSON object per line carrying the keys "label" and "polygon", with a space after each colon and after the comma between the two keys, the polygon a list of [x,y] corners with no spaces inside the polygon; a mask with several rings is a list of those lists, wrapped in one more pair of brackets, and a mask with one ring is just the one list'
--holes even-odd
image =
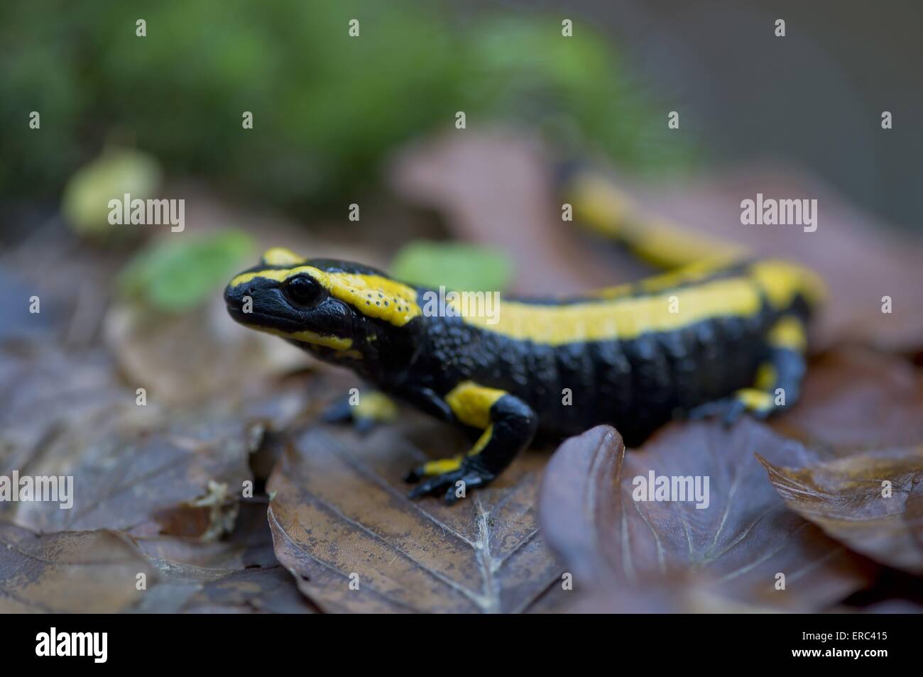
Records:
{"label": "pointed orange-brown leaf with curled edge at lower right edge", "polygon": [[870,558],[923,574],[923,446],[809,466],[761,458],[785,505]]}

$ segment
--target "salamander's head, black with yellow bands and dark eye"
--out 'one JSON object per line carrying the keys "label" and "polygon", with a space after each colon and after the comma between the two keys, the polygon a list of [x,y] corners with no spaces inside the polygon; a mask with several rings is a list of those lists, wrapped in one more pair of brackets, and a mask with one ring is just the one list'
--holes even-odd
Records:
{"label": "salamander's head, black with yellow bands and dark eye", "polygon": [[370,267],[275,248],[224,290],[228,313],[325,357],[361,357],[414,331],[417,292]]}

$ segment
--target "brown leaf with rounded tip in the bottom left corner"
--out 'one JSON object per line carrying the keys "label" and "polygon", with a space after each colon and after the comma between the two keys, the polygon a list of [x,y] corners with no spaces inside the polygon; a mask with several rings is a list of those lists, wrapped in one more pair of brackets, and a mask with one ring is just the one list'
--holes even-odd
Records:
{"label": "brown leaf with rounded tip in the bottom left corner", "polygon": [[36,534],[0,522],[0,612],[115,613],[133,609],[157,569],[124,534]]}

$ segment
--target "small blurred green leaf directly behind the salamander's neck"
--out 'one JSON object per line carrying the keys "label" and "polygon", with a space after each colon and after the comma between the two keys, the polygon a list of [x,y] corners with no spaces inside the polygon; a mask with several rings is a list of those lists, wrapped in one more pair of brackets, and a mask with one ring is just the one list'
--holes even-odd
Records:
{"label": "small blurred green leaf directly behind the salamander's neck", "polygon": [[391,261],[390,274],[421,287],[459,291],[502,291],[512,264],[498,252],[464,243],[414,240]]}

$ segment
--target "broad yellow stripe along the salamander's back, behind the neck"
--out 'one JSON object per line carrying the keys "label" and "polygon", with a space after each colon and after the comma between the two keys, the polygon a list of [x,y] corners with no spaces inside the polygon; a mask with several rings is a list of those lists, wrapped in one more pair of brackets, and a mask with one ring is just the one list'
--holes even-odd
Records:
{"label": "broad yellow stripe along the salamander's back, behind the neck", "polygon": [[[730,278],[611,302],[539,305],[501,301],[497,324],[475,315],[464,321],[511,339],[561,345],[636,339],[647,332],[689,327],[713,317],[749,317],[760,311],[761,303],[761,290],[753,280]],[[672,309],[677,312],[671,313]]]}

